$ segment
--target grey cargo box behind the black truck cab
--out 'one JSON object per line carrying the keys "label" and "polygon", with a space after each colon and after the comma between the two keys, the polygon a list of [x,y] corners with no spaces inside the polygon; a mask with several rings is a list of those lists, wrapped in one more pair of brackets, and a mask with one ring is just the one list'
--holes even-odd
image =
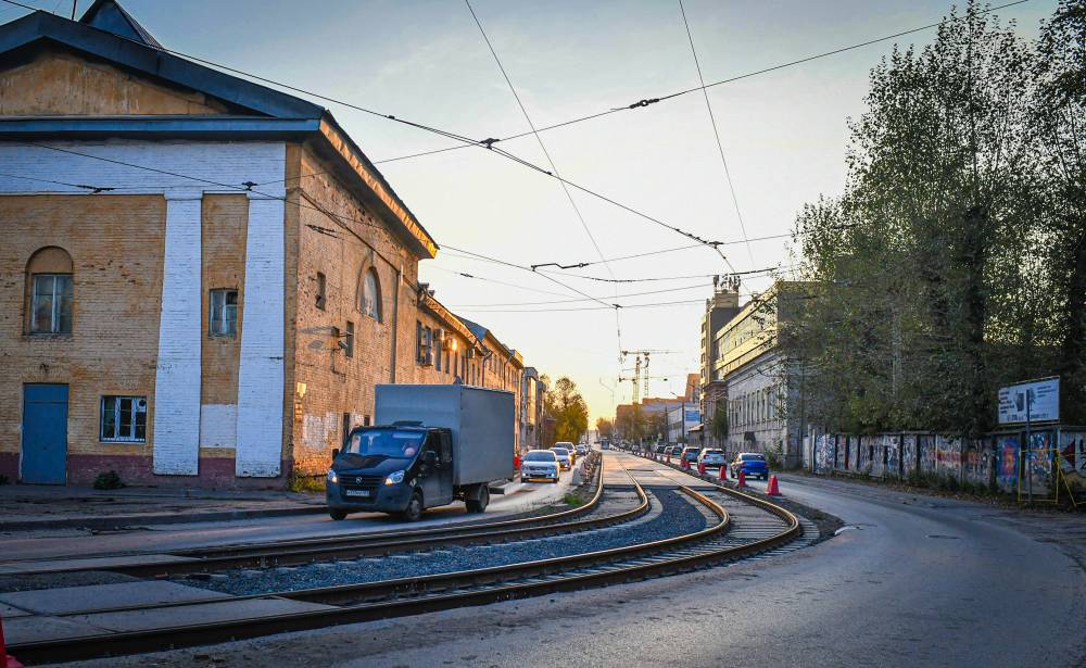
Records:
{"label": "grey cargo box behind the black truck cab", "polygon": [[465,385],[379,385],[375,421],[417,420],[453,432],[453,484],[513,477],[514,396]]}

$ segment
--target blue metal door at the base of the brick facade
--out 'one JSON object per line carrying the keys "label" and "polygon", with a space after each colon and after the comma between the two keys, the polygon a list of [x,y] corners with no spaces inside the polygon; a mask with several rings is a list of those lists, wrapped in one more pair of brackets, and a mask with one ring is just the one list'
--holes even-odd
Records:
{"label": "blue metal door at the base of the brick facade", "polygon": [[67,386],[23,386],[23,482],[67,479]]}

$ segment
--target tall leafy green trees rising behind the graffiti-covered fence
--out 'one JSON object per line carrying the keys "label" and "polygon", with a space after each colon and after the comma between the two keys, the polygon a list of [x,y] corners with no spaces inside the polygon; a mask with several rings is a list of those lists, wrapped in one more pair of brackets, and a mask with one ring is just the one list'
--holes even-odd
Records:
{"label": "tall leafy green trees rising behind the graffiti-covered fence", "polygon": [[982,12],[872,70],[844,193],[797,216],[782,344],[828,428],[975,434],[999,386],[1052,373],[1086,419],[1083,10],[1036,43]]}

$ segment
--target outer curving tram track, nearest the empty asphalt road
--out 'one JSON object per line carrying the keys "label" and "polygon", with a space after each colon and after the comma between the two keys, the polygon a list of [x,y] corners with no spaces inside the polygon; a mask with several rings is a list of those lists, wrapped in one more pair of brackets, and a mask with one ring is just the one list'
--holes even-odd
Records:
{"label": "outer curving tram track, nearest the empty asphalt road", "polygon": [[[719,486],[705,493],[679,489],[718,521],[692,533],[571,556],[230,598],[313,604],[304,612],[27,642],[10,652],[31,664],[65,661],[418,615],[694,570],[786,550],[805,535],[798,517],[767,501]],[[193,602],[104,609],[154,613],[186,605]]]}

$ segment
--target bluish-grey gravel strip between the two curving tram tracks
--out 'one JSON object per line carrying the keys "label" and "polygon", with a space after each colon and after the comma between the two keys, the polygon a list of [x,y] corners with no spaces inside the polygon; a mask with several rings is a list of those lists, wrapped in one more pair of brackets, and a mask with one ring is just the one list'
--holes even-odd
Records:
{"label": "bluish-grey gravel strip between the two curving tram tracks", "polygon": [[646,490],[654,506],[649,514],[606,529],[497,545],[446,547],[430,552],[367,557],[352,562],[311,564],[266,570],[235,570],[211,576],[210,580],[184,578],[178,581],[229,594],[247,595],[296,591],[396,578],[502,566],[534,559],[571,556],[700,531],[711,521],[707,511],[672,489]]}

